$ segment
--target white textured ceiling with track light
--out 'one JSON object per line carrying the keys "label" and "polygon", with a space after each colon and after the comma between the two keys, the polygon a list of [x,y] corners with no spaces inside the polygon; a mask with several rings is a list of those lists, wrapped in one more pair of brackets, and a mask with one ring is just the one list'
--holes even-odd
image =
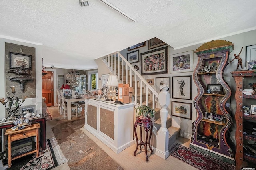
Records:
{"label": "white textured ceiling with track light", "polygon": [[97,68],[94,59],[157,37],[174,49],[256,29],[256,0],[0,0],[0,36],[42,44],[44,65]]}

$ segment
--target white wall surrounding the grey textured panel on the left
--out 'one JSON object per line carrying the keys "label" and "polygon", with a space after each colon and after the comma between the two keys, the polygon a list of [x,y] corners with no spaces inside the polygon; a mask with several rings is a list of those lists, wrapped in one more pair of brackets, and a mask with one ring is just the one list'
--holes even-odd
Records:
{"label": "white wall surrounding the grey textured panel on the left", "polygon": [[[13,43],[36,48],[36,98],[27,98],[23,103],[26,105],[36,105],[37,113],[42,113],[42,44],[28,42],[11,37],[0,35],[0,97],[6,98],[5,94],[5,43]],[[26,86],[25,86],[26,88]],[[21,97],[21,96],[19,96]],[[0,119],[5,117],[5,107],[0,104]]]}

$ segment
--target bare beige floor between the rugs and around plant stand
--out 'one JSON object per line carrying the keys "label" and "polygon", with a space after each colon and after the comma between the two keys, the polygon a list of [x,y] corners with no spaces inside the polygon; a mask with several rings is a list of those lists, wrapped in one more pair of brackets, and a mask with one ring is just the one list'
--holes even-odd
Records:
{"label": "bare beige floor between the rugs and around plant stand", "polygon": [[[55,137],[54,133],[52,132],[52,127],[55,127],[59,123],[66,122],[62,115],[58,113],[58,107],[48,107],[48,111],[52,115],[51,121],[46,121],[46,138],[52,138]],[[80,119],[83,117],[72,117],[71,121]],[[142,169],[148,169],[148,170],[196,170],[193,166],[190,166],[189,164],[186,164],[185,162],[182,162],[181,160],[178,160],[177,158],[174,158],[173,156],[169,156],[166,160],[160,158],[159,156],[156,156],[155,154],[150,155],[149,154],[149,161],[146,162],[145,160],[145,152],[144,150],[137,151],[137,155],[134,156],[133,152],[136,148],[136,144],[133,144],[129,148],[126,148],[119,154],[114,153],[108,146],[106,146],[104,143],[102,143],[100,140],[98,140],[94,135],[92,135],[90,132],[84,129],[84,127],[80,128],[80,130],[88,136],[93,142],[95,142],[106,154],[108,154],[115,162],[117,162],[122,168],[125,170],[142,170]],[[186,138],[179,137],[176,140],[176,143],[182,144],[186,147],[189,147],[190,140]],[[77,151],[78,152],[78,151]],[[100,160],[100,157],[98,158]],[[101,164],[100,161],[94,162],[95,164]],[[69,170],[71,168],[68,167],[68,164],[62,164],[61,166],[58,166],[54,168],[54,170]],[[81,169],[82,170],[82,169]]]}

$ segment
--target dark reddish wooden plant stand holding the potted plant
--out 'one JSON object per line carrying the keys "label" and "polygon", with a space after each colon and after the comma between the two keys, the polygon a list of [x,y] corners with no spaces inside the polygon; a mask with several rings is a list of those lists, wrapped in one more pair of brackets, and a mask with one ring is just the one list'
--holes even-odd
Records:
{"label": "dark reddish wooden plant stand holding the potted plant", "polygon": [[[140,126],[140,143],[138,143],[138,136],[137,136],[137,132],[136,132],[136,128],[137,128],[137,125]],[[144,130],[146,131],[146,141],[143,142],[142,140],[142,131],[141,131],[141,127],[144,127]],[[150,130],[150,134],[149,134],[149,138],[148,138],[148,131]],[[147,145],[148,147],[150,148],[151,150],[151,154],[153,153],[153,150],[150,146],[150,140],[151,140],[151,136],[152,136],[152,130],[153,130],[153,123],[151,121],[151,118],[148,117],[148,118],[140,118],[140,117],[137,117],[137,120],[135,121],[134,123],[134,133],[135,133],[135,137],[136,137],[136,143],[137,143],[137,146],[136,146],[136,149],[134,151],[134,156],[136,156],[136,152],[138,150],[138,146],[140,146],[140,149],[141,149],[141,145],[144,146],[145,148],[145,154],[146,154],[146,161],[148,161],[148,152],[147,152]]]}

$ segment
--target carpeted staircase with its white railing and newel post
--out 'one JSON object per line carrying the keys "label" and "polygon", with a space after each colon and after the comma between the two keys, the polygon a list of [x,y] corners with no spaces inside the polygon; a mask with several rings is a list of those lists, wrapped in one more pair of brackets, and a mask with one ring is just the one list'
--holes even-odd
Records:
{"label": "carpeted staircase with its white railing and newel post", "polygon": [[172,127],[172,118],[166,107],[158,103],[159,94],[148,85],[147,81],[134,67],[119,53],[112,53],[102,57],[112,75],[117,75],[119,83],[133,87],[132,101],[135,108],[138,105],[148,105],[156,111],[153,122],[153,136],[151,145],[156,155],[166,159],[169,156],[168,148],[180,136],[180,128]]}

